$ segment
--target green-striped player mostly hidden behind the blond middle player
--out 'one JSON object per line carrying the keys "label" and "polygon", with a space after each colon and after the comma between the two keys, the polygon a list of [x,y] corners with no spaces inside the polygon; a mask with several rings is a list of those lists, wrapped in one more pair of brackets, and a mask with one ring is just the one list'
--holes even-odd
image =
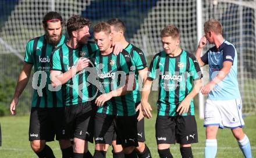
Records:
{"label": "green-striped player mostly hidden behind the blond middle player", "polygon": [[[131,60],[133,60],[134,66],[136,68],[135,71],[135,77],[136,77],[136,89],[133,91],[133,99],[136,103],[136,111],[137,111],[137,137],[138,137],[138,147],[136,147],[137,156],[139,158],[144,157],[151,157],[150,149],[148,149],[147,145],[145,145],[145,132],[144,132],[144,116],[141,112],[141,105],[140,105],[140,91],[139,91],[139,85],[138,85],[138,77],[142,79],[144,82],[147,78],[147,59],[145,58],[145,55],[143,51],[141,51],[140,48],[137,48],[133,44],[130,44],[126,41],[125,38],[125,24],[120,19],[111,19],[108,20],[108,23],[111,25],[111,33],[113,34],[113,41],[121,42],[123,45],[123,49],[125,51],[129,52],[131,56]],[[118,157],[119,155],[122,155],[122,146],[116,145],[116,140],[114,139],[112,142],[113,146],[113,157]]]}

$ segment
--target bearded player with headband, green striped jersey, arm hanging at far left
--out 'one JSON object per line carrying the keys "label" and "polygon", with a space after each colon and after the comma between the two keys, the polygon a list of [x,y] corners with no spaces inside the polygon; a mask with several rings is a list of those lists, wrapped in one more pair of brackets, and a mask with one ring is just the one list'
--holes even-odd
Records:
{"label": "bearded player with headband, green striped jersey, arm hanging at far left", "polygon": [[57,12],[49,12],[42,21],[45,35],[27,42],[24,66],[17,82],[10,112],[16,114],[19,96],[29,81],[34,66],[33,98],[30,114],[29,140],[31,148],[38,157],[54,157],[48,141],[59,140],[63,157],[72,156],[72,146],[63,134],[64,112],[61,91],[51,91],[49,64],[52,50],[65,42],[62,35],[62,16]]}

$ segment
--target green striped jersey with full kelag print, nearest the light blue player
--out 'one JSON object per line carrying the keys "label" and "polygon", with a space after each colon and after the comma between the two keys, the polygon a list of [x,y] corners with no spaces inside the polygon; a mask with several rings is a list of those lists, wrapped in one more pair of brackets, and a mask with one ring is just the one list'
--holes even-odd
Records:
{"label": "green striped jersey with full kelag print, nearest the light blue player", "polygon": [[[177,116],[177,107],[193,89],[192,80],[202,78],[200,66],[191,53],[182,50],[180,55],[170,57],[165,51],[154,56],[149,67],[148,78],[159,77],[158,115]],[[194,115],[193,99],[189,112],[182,116]]]}

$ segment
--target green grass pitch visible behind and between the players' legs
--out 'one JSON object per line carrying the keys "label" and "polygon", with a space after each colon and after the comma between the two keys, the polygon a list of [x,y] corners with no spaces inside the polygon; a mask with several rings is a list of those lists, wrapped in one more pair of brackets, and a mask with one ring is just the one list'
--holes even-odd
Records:
{"label": "green grass pitch visible behind and between the players' legs", "polygon": [[[153,157],[158,157],[157,143],[155,141],[155,116],[151,120],[145,120],[145,134],[147,145],[151,150]],[[246,126],[244,131],[250,138],[253,156],[256,156],[256,116],[244,117]],[[30,149],[28,141],[29,116],[8,116],[0,117],[2,127],[2,147],[0,147],[1,158],[15,157],[36,157]],[[193,145],[194,157],[204,157],[205,128],[202,127],[202,120],[197,119],[199,143]],[[54,150],[56,157],[61,157],[61,150],[58,142],[49,142],[49,146]],[[94,145],[90,144],[91,153],[94,152]],[[181,157],[179,145],[172,145],[170,148],[174,157]],[[106,157],[112,157],[111,149],[108,150]],[[228,129],[218,132],[218,153],[216,157],[243,157],[236,140]]]}

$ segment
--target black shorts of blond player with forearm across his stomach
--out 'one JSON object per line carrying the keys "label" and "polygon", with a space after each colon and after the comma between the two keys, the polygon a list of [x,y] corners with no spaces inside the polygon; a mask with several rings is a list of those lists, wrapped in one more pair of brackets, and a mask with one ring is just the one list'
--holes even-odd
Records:
{"label": "black shorts of blond player with forearm across his stomach", "polygon": [[138,146],[136,115],[113,116],[97,113],[94,119],[95,143],[111,145],[115,132],[117,144],[124,147]]}

